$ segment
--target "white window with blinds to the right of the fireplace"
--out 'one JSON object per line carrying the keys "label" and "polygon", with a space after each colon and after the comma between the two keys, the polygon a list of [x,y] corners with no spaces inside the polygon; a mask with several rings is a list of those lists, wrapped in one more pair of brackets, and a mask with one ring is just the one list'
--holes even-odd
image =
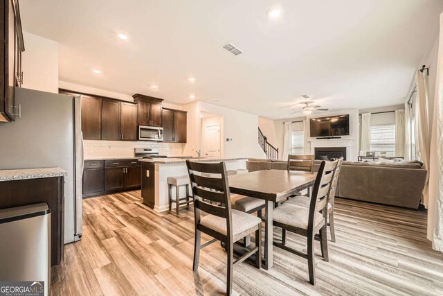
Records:
{"label": "white window with blinds to the right of the fireplace", "polygon": [[395,156],[395,124],[371,125],[370,150],[379,155],[386,152],[386,156]]}

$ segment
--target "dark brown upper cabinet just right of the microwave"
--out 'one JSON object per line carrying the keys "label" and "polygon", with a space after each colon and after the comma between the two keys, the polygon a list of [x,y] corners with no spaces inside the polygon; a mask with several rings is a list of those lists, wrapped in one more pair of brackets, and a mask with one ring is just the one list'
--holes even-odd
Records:
{"label": "dark brown upper cabinet just right of the microwave", "polygon": [[186,111],[163,108],[163,142],[186,143]]}

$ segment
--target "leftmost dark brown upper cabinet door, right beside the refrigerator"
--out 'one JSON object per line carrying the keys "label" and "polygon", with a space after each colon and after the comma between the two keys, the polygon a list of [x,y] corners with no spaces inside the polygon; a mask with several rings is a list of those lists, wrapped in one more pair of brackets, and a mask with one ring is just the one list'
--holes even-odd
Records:
{"label": "leftmost dark brown upper cabinet door, right beside the refrigerator", "polygon": [[83,139],[102,139],[102,99],[82,95]]}

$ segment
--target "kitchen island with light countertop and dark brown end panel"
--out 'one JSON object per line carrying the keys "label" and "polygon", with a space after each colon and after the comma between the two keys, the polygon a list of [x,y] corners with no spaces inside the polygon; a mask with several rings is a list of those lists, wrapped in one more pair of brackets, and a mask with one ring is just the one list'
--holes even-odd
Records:
{"label": "kitchen island with light countertop and dark brown end panel", "polygon": [[[210,158],[190,158],[196,162],[225,162],[227,170],[235,170],[238,168],[246,168],[247,158],[225,158],[225,159],[210,159]],[[139,159],[142,163],[142,182],[141,195],[143,203],[151,207],[155,211],[167,211],[169,209],[168,203],[168,177],[178,177],[181,175],[188,175],[188,168],[186,168],[186,160],[183,158],[154,158],[154,159]],[[172,196],[175,196],[175,188],[172,189]],[[181,187],[180,196],[186,196],[185,186]]]}

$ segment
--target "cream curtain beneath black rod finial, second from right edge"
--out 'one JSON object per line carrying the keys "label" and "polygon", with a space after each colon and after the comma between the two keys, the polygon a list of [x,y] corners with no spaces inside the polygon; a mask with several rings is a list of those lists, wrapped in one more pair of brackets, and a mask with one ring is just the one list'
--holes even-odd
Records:
{"label": "cream curtain beneath black rod finial, second from right edge", "polygon": [[424,71],[417,70],[417,96],[413,102],[413,110],[415,111],[415,144],[417,145],[420,159],[422,159],[424,168],[428,171],[423,189],[423,204],[428,208],[429,199],[429,146],[431,146],[431,138],[429,134],[429,113],[428,113],[428,75]]}

